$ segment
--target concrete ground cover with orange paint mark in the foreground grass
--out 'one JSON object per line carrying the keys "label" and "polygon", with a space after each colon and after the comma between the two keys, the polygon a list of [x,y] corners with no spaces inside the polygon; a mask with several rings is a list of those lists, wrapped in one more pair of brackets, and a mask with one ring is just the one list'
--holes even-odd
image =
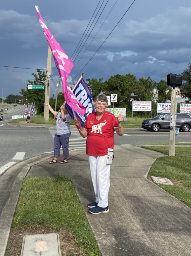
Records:
{"label": "concrete ground cover with orange paint mark in the foreground grass", "polygon": [[20,256],[61,256],[58,234],[25,235]]}

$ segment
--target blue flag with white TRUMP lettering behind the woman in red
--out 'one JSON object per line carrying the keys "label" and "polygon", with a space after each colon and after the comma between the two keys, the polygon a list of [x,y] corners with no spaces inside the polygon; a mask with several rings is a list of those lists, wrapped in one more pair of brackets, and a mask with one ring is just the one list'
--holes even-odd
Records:
{"label": "blue flag with white TRUMP lettering behind the woman in red", "polygon": [[[76,96],[78,101],[82,103],[82,105],[86,108],[85,114],[82,116],[78,112],[75,112],[76,119],[81,123],[81,126],[84,127],[87,116],[94,112],[94,106],[92,105],[92,94],[90,90],[87,87],[87,84],[85,83],[84,79],[81,78],[78,83],[73,88],[73,94]],[[69,115],[74,119],[74,114],[72,111],[72,108],[66,103],[65,104],[66,110],[68,111]]]}

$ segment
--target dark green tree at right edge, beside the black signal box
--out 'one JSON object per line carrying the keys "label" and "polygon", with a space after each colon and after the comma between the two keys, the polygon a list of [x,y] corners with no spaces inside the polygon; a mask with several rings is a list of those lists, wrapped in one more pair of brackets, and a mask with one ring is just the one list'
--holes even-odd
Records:
{"label": "dark green tree at right edge, beside the black signal box", "polygon": [[182,78],[185,83],[180,86],[180,97],[188,98],[187,103],[191,102],[191,63],[188,63],[188,68],[186,68],[182,73]]}

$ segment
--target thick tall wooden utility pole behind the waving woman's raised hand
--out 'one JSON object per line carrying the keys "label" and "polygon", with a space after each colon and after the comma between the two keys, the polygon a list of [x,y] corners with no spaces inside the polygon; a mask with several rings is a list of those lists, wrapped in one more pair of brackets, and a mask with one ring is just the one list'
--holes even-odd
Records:
{"label": "thick tall wooden utility pole behind the waving woman's raised hand", "polygon": [[[46,83],[45,83],[45,99],[44,102],[48,102],[50,100],[50,77],[51,77],[51,59],[52,59],[52,51],[50,46],[48,47],[48,57],[47,57],[47,74],[46,74]],[[44,105],[44,122],[49,121],[49,108]]]}

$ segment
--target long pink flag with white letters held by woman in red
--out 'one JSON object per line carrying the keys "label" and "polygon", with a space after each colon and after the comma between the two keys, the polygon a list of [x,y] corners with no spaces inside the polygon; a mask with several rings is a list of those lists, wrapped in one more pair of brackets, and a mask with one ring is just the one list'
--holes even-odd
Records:
{"label": "long pink flag with white letters held by woman in red", "polygon": [[44,31],[44,34],[47,38],[47,41],[49,42],[49,46],[52,51],[52,55],[56,64],[56,67],[58,69],[58,73],[61,77],[62,85],[63,85],[63,92],[64,92],[64,98],[70,108],[74,109],[76,112],[81,114],[82,116],[85,114],[86,109],[85,107],[78,101],[78,99],[73,94],[70,86],[67,83],[67,78],[74,66],[73,62],[70,60],[70,58],[66,55],[65,51],[62,49],[62,47],[59,45],[59,43],[56,41],[54,36],[51,34],[49,29],[47,28],[46,24],[44,23],[44,20],[42,19],[42,16],[40,15],[38,6],[35,6],[37,10],[37,14],[39,16],[39,22],[42,26],[42,29]]}

